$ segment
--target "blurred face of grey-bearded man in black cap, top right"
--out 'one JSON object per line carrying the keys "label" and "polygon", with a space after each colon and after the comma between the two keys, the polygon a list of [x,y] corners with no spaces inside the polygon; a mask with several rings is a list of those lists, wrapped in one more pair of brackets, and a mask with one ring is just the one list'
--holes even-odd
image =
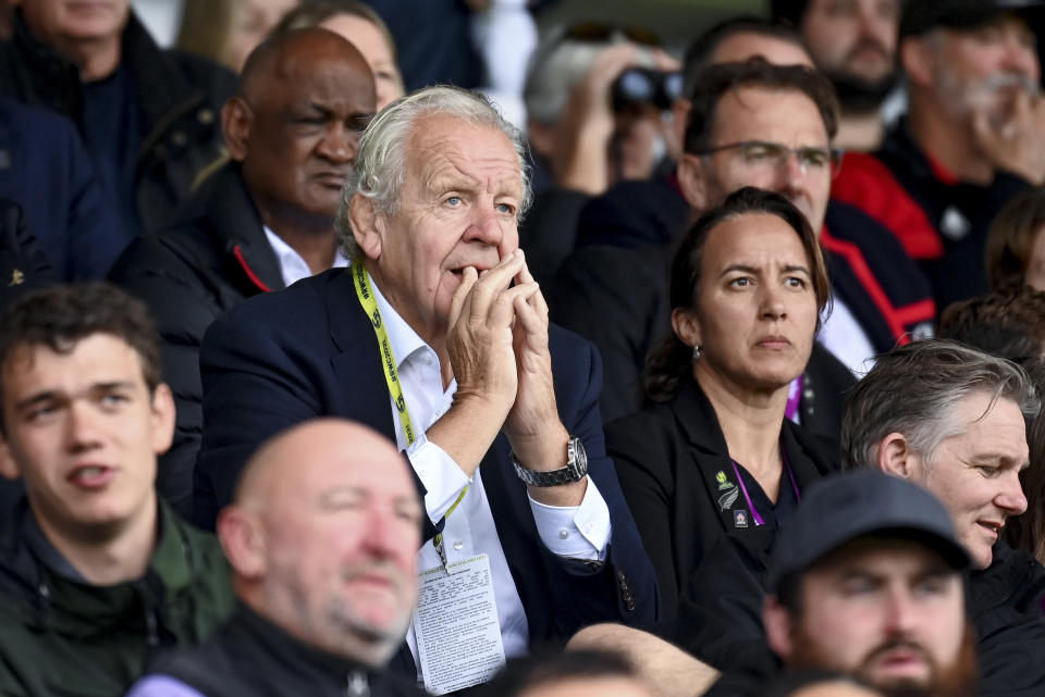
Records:
{"label": "blurred face of grey-bearded man in black cap, top right", "polygon": [[1037,90],[1034,34],[1016,15],[976,29],[937,29],[921,40],[933,57],[933,94],[952,117],[983,111],[998,126],[1011,116],[1020,91]]}

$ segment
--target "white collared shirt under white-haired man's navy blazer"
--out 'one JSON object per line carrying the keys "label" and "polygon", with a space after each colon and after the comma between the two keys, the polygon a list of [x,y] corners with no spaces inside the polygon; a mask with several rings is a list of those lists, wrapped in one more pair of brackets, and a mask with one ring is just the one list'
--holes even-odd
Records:
{"label": "white collared shirt under white-haired man's navy blazer", "polygon": [[[501,548],[501,540],[497,538],[493,513],[490,511],[490,502],[482,485],[482,473],[477,470],[469,482],[457,463],[423,435],[440,416],[450,410],[454,393],[457,390],[457,382],[451,382],[450,387],[443,390],[439,357],[435,356],[435,351],[425,344],[406,321],[392,309],[372,278],[371,286],[389,335],[392,354],[395,357],[399,384],[403,387],[410,421],[414,430],[421,434],[410,448],[406,447],[406,437],[403,434],[398,412],[390,396],[389,408],[392,410],[395,422],[396,444],[399,450],[407,451],[407,458],[414,471],[425,485],[427,490],[425,508],[432,521],[442,520],[460,491],[466,486],[469,487],[468,493],[453,513],[446,518],[443,526],[446,561],[453,563],[480,553],[489,556],[504,654],[506,657],[525,655],[529,639],[526,613],[508,569],[508,561]],[[565,452],[563,455],[565,456]],[[501,464],[512,466],[509,462]],[[522,486],[521,482],[519,486]],[[531,498],[530,509],[533,512],[541,542],[553,553],[575,559],[605,559],[606,545],[612,532],[610,509],[590,477],[580,506],[569,508],[544,506]],[[426,543],[417,555],[418,571],[432,569],[441,563],[431,542]],[[417,638],[413,627],[406,638],[414,654],[414,662],[418,665],[418,680],[420,680]]]}

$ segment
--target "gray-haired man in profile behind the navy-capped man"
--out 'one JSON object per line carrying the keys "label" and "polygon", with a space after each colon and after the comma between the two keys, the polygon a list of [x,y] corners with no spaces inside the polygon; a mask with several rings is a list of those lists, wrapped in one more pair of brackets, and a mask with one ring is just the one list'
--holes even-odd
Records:
{"label": "gray-haired man in profile behind the navy-capped man", "polygon": [[972,559],[980,694],[1045,689],[1045,570],[998,540],[1006,520],[1028,507],[1019,480],[1028,466],[1024,418],[1040,408],[1013,363],[949,341],[915,341],[878,358],[843,420],[845,468],[912,481],[950,511]]}

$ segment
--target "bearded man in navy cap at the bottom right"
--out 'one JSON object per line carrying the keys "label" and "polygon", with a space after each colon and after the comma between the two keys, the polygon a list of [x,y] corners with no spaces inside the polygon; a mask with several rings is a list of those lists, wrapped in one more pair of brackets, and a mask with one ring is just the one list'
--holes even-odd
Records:
{"label": "bearded man in navy cap at the bottom right", "polygon": [[885,695],[971,694],[968,561],[925,489],[877,472],[824,481],[774,550],[770,646],[788,668],[852,673]]}

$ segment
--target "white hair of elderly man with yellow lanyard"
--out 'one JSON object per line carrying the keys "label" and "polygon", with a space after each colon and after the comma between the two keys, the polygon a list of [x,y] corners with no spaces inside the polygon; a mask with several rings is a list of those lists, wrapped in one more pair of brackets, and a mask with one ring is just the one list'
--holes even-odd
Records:
{"label": "white hair of elderly man with yellow lanyard", "polygon": [[409,166],[407,144],[410,134],[419,119],[432,114],[447,114],[504,133],[519,158],[519,176],[522,179],[522,198],[518,208],[520,220],[529,208],[533,199],[530,167],[526,142],[518,128],[508,123],[482,95],[447,85],[425,87],[382,109],[359,138],[356,165],[345,179],[341,206],[334,217],[334,229],[348,259],[361,254],[348,220],[353,197],[356,194],[365,196],[385,215],[396,212]]}

